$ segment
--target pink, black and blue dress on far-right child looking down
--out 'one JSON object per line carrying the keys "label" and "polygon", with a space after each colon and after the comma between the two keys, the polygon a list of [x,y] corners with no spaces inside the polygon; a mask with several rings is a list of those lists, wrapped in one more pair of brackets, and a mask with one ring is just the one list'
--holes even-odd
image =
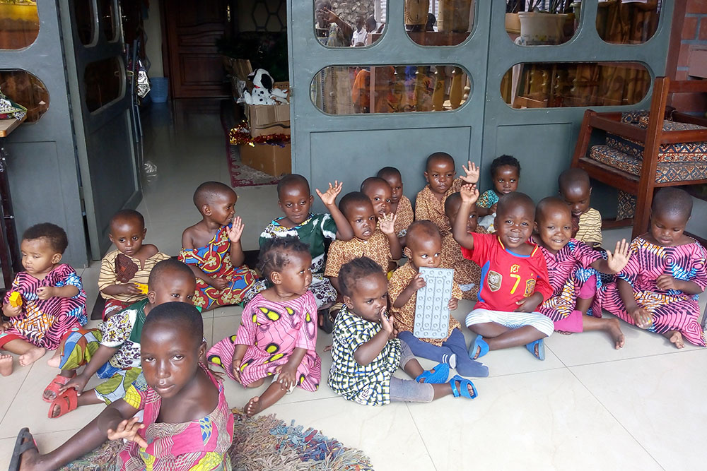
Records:
{"label": "pink, black and blue dress on far-right child looking down", "polygon": [[[659,290],[655,280],[663,274],[677,280],[696,283],[703,290],[707,287],[707,252],[697,242],[665,247],[636,237],[631,242],[629,264],[617,278],[629,282],[633,297],[639,307],[653,315],[650,332],[665,333],[677,330],[694,345],[707,346],[705,333],[699,323],[699,297],[678,290]],[[624,321],[635,324],[626,311],[616,283],[602,287],[602,308]]]}

